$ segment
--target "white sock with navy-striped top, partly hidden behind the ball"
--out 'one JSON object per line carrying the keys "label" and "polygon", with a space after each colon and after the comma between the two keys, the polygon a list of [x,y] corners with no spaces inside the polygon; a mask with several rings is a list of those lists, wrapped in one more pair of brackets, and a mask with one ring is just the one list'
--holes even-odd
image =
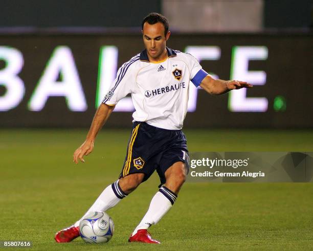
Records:
{"label": "white sock with navy-striped top, partly hidden behind the ball", "polygon": [[[103,192],[99,195],[99,197],[94,202],[93,206],[84,214],[87,215],[89,212],[93,211],[102,211],[105,212],[110,208],[116,206],[117,203],[121,201],[122,198],[125,198],[127,194],[125,194],[120,186],[119,180],[115,181],[113,184],[106,187]],[[79,222],[84,218],[81,217],[78,221],[75,222],[74,226],[79,226]]]}

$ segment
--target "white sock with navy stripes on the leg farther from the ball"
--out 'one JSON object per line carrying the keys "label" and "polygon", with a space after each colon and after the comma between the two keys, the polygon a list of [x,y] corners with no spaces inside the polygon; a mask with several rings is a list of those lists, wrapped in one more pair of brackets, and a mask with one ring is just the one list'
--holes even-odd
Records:
{"label": "white sock with navy stripes on the leg farther from the ball", "polygon": [[172,207],[176,198],[177,195],[167,187],[160,188],[159,192],[153,196],[146,215],[132,232],[131,236],[135,235],[140,229],[148,229],[151,225],[157,224]]}

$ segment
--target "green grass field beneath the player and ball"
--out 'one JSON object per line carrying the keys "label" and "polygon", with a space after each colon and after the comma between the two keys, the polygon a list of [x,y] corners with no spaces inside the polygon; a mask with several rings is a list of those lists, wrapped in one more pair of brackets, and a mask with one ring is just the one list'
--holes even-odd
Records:
{"label": "green grass field beneath the player and ball", "polygon": [[[189,151],[313,151],[309,130],[186,130]],[[56,243],[120,173],[129,130],[102,130],[85,163],[72,162],[86,130],[0,130],[0,240],[31,250],[313,250],[312,183],[186,183],[150,228],[161,245],[128,243],[159,180],[153,175],[108,211],[107,244]],[[7,248],[12,250],[13,248]]]}

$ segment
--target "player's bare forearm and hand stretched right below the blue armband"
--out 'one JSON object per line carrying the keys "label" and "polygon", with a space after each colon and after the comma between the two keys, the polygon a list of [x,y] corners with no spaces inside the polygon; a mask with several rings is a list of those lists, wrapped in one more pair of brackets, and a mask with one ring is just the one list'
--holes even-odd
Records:
{"label": "player's bare forearm and hand stretched right below the blue armband", "polygon": [[228,93],[230,90],[253,87],[252,84],[244,81],[225,81],[221,79],[214,79],[209,75],[202,80],[200,86],[205,89],[207,93],[212,95],[220,95]]}

